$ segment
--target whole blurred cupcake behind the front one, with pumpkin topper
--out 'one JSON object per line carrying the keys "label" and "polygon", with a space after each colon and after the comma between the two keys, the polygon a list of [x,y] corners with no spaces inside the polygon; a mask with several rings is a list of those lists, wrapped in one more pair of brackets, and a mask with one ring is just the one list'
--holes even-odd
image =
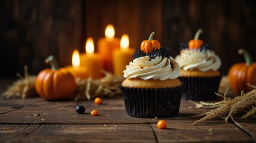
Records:
{"label": "whole blurred cupcake behind the front one, with pumpkin topper", "polygon": [[175,61],[181,67],[179,79],[185,85],[182,99],[185,100],[216,100],[221,74],[218,69],[221,60],[209,45],[199,39],[199,29],[188,44],[181,44],[180,54]]}

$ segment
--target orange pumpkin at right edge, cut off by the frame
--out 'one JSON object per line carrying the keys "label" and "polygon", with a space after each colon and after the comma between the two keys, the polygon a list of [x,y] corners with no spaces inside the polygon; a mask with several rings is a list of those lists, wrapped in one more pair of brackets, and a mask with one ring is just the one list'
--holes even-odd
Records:
{"label": "orange pumpkin at right edge, cut off by the frame", "polygon": [[245,49],[239,49],[238,52],[245,57],[245,63],[236,63],[231,66],[227,76],[231,89],[240,94],[242,90],[244,92],[252,90],[250,86],[246,85],[247,83],[256,85],[256,63],[253,63],[251,55]]}

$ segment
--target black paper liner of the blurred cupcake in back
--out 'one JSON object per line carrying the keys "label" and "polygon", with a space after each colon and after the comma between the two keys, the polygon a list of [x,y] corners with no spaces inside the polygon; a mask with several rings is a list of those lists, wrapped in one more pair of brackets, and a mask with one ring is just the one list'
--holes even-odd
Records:
{"label": "black paper liner of the blurred cupcake in back", "polygon": [[182,99],[197,101],[217,100],[215,92],[218,92],[221,76],[179,77],[179,79],[185,85]]}

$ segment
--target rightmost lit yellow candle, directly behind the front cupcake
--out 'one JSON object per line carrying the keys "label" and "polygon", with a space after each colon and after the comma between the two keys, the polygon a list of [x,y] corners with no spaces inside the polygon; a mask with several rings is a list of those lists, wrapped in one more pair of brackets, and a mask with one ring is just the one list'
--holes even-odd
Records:
{"label": "rightmost lit yellow candle, directly behind the front cupcake", "polygon": [[132,61],[132,55],[134,54],[134,49],[129,48],[128,35],[122,36],[120,47],[120,49],[115,49],[113,53],[114,74],[123,76],[123,71],[126,69],[126,65],[129,65],[129,62]]}

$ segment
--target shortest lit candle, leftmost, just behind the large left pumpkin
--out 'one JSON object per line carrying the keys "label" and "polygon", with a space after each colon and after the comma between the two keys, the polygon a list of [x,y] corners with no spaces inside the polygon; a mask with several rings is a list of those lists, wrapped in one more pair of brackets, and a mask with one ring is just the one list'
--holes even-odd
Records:
{"label": "shortest lit candle, leftmost, just behind the large left pumpkin", "polygon": [[77,78],[87,79],[88,73],[86,67],[80,67],[80,57],[77,49],[74,50],[72,55],[72,66],[65,67],[72,75]]}

